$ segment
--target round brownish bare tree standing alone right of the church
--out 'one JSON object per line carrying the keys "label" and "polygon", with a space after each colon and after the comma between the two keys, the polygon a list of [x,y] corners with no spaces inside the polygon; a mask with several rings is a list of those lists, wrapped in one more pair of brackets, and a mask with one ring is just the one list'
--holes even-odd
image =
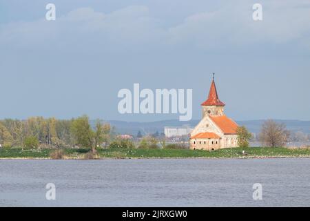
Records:
{"label": "round brownish bare tree standing alone right of the church", "polygon": [[268,119],[262,124],[258,139],[265,146],[285,146],[289,140],[289,131],[287,131],[285,124]]}

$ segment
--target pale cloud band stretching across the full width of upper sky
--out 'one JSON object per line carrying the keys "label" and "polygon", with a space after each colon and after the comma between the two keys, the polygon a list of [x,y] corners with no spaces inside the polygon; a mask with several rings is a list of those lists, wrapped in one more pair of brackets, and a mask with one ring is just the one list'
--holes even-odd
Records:
{"label": "pale cloud band stretching across the full width of upper sky", "polygon": [[[0,47],[48,49],[105,48],[147,50],[194,46],[199,49],[247,48],[253,44],[291,41],[309,46],[307,1],[263,1],[263,21],[253,21],[251,4],[234,1],[218,10],[190,15],[165,28],[147,6],[128,6],[110,13],[78,8],[56,21],[8,23],[0,27]],[[297,42],[298,41],[298,42]]]}

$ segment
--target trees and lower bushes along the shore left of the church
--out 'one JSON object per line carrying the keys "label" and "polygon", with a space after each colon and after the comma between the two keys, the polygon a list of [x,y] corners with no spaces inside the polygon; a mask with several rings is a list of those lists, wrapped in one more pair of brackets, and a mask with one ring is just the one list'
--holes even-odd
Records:
{"label": "trees and lower bushes along the shore left of the church", "polygon": [[139,136],[138,144],[118,137],[110,124],[96,120],[90,124],[87,115],[72,119],[30,117],[25,120],[0,120],[0,145],[3,148],[185,148],[179,144],[165,144],[165,137],[156,132]]}

